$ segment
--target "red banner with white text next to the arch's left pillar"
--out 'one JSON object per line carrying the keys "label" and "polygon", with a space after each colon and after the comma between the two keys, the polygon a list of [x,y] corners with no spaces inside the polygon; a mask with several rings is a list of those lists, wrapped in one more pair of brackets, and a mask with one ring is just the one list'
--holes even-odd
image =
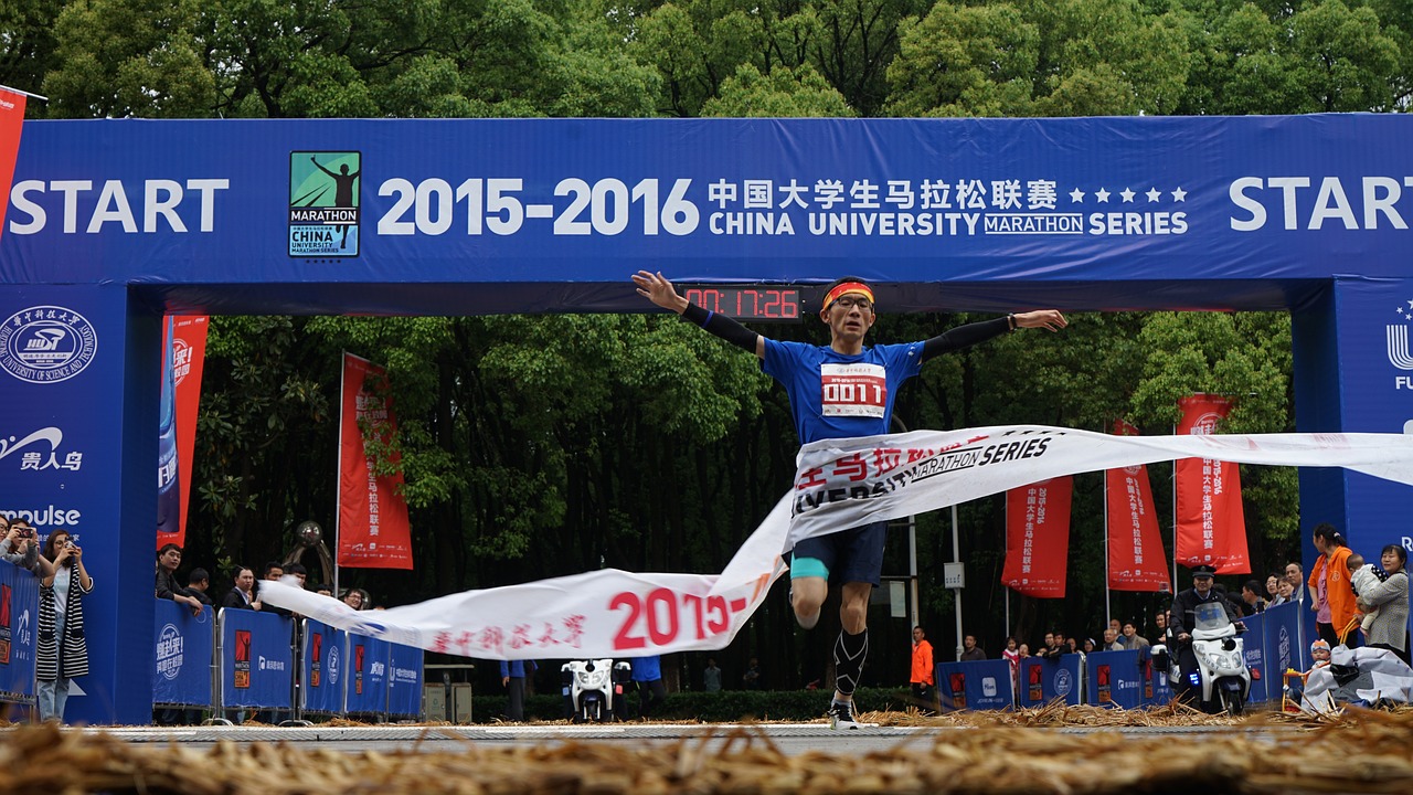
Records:
{"label": "red banner with white text next to the arch's left pillar", "polygon": [[[158,519],[157,519],[157,549],[162,545],[187,545],[187,516],[191,505],[192,457],[196,454],[196,412],[201,410],[201,375],[206,365],[206,330],[209,320],[205,315],[168,317],[162,324],[162,419],[158,444],[162,457],[158,461]],[[170,378],[170,382],[168,382]],[[168,393],[171,390],[171,393]],[[171,412],[171,416],[168,416]],[[171,470],[167,457],[170,440],[168,433],[175,433],[177,464]],[[177,472],[175,482],[168,484],[171,472]],[[164,488],[175,488],[177,495],[171,497]],[[172,501],[172,502],[168,502]],[[171,525],[167,505],[178,506],[178,522]]]}

